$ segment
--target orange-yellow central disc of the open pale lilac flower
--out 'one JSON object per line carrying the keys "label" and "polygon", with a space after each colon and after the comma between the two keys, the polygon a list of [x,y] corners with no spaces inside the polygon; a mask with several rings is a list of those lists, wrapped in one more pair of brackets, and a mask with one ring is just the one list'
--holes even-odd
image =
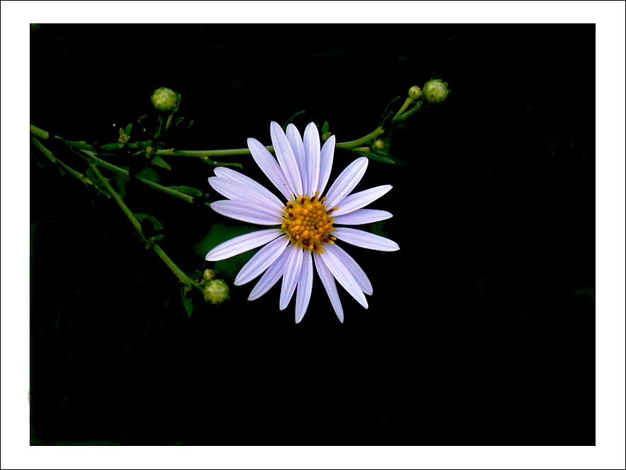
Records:
{"label": "orange-yellow central disc of the open pale lilac flower", "polygon": [[326,210],[324,207],[326,198],[316,200],[318,194],[316,192],[313,197],[298,196],[295,200],[287,202],[280,229],[294,245],[307,248],[308,251],[324,253],[324,243],[334,243],[337,240],[330,235],[334,230],[330,214],[339,207]]}

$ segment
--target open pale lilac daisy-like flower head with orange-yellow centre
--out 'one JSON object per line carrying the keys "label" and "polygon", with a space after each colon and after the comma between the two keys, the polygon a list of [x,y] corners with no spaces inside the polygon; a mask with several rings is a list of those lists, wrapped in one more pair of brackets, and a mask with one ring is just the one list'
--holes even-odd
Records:
{"label": "open pale lilac daisy-like flower head with orange-yellow centre", "polygon": [[215,212],[252,224],[277,227],[225,241],[207,253],[207,261],[224,260],[265,245],[241,268],[235,285],[243,285],[264,273],[248,297],[254,300],[282,277],[279,307],[286,308],[297,287],[296,323],[299,323],[311,299],[315,260],[318,276],[343,323],[335,279],[365,308],[364,294],[372,294],[372,285],[352,256],[335,241],[378,251],[396,251],[400,247],[383,236],[336,226],[369,224],[392,217],[384,210],[363,209],[386,194],[391,186],[376,186],[350,194],[367,168],[368,159],[361,157],[337,176],[325,197],[320,197],[332,168],[335,136],[330,136],[320,151],[320,136],[313,122],[306,126],[304,140],[293,124],[287,126],[286,134],[276,122],[272,122],[269,130],[278,161],[256,139],[248,139],[248,148],[286,202],[281,202],[255,180],[224,166],[215,168],[215,176],[209,178],[209,184],[228,197],[228,200],[211,204]]}

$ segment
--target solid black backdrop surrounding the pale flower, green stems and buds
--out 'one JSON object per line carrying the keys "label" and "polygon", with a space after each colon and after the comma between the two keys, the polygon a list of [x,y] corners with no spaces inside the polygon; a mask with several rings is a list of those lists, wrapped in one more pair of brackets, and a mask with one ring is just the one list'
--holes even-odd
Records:
{"label": "solid black backdrop surrounding the pale flower, green stems and buds", "polygon": [[[219,307],[144,248],[112,199],[31,145],[31,442],[202,445],[593,445],[594,25],[41,25],[31,31],[30,122],[105,144],[182,96],[168,147],[228,149],[269,122],[374,130],[408,88],[448,82],[385,134],[357,190],[400,245],[349,246],[373,284],[344,323],[315,275],[294,324],[279,285]],[[154,119],[154,117],[152,117]],[[116,127],[113,127],[113,125]],[[186,126],[184,126],[186,128]],[[139,136],[137,135],[139,134]],[[132,140],[141,129],[135,124]],[[63,144],[45,143],[79,171]],[[357,155],[335,152],[331,181]],[[116,164],[137,168],[132,159]],[[221,199],[213,168],[166,159],[164,185]],[[219,160],[219,159],[218,159]],[[269,187],[250,156],[243,173]],[[112,162],[114,163],[114,162]],[[245,226],[131,180],[124,201],[165,227],[190,275],[213,224]],[[361,227],[359,227],[361,228]],[[146,229],[147,230],[147,229]],[[207,263],[208,265],[208,263]],[[578,294],[576,294],[578,291]]]}

